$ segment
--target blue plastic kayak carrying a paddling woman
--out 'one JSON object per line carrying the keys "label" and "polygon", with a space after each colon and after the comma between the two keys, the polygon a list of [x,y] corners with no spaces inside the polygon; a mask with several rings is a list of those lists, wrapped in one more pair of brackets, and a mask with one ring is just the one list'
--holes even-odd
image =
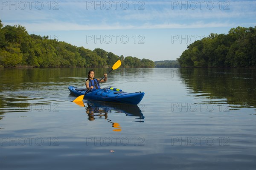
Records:
{"label": "blue plastic kayak carrying a paddling woman", "polygon": [[[74,96],[84,95],[87,91],[87,89],[76,88],[74,86],[69,86],[68,89]],[[86,95],[84,95],[84,99],[137,105],[140,103],[143,96],[144,92],[126,93],[124,91],[116,91],[113,88],[100,88],[88,92]]]}

